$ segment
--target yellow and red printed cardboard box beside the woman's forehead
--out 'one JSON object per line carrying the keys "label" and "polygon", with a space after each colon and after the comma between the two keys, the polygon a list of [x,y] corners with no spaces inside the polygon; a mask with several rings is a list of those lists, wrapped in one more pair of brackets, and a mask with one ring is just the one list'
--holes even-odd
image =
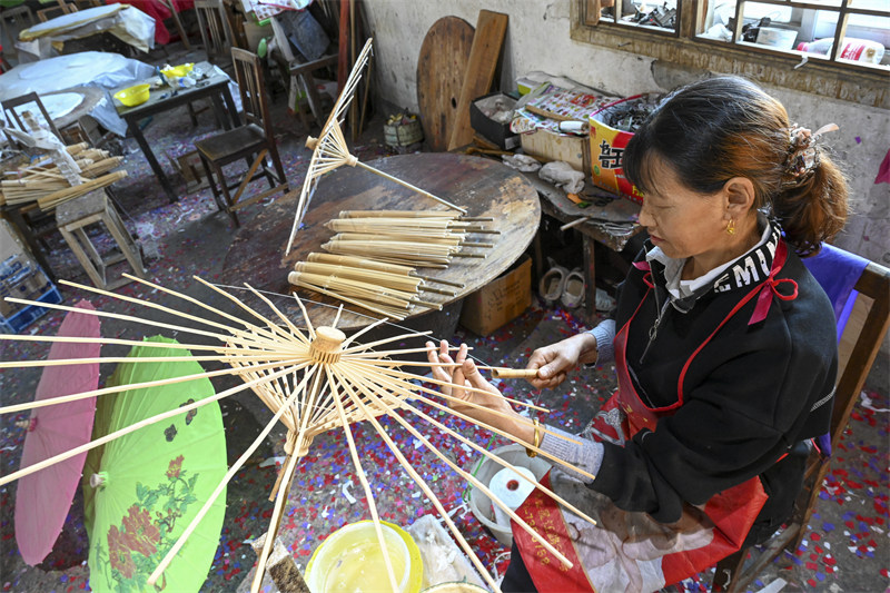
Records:
{"label": "yellow and red printed cardboard box beside the woman's forehead", "polygon": [[591,180],[593,185],[613,194],[619,194],[636,204],[643,204],[643,195],[624,177],[622,169],[624,149],[633,138],[633,132],[615,129],[605,123],[616,111],[627,111],[640,101],[652,102],[652,95],[634,95],[609,103],[591,113],[590,154]]}

